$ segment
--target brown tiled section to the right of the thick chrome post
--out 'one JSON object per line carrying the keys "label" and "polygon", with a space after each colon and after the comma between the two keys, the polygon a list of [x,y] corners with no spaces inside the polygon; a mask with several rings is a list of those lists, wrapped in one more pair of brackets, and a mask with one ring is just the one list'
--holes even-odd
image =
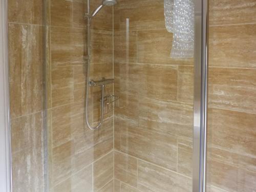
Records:
{"label": "brown tiled section to the right of the thick chrome post", "polygon": [[250,2],[209,5],[210,191],[255,191],[256,8]]}

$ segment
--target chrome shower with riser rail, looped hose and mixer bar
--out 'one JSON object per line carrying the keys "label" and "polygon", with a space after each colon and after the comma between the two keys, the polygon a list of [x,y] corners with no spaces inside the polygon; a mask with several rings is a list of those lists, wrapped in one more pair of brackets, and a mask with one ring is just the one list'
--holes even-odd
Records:
{"label": "chrome shower with riser rail, looped hose and mixer bar", "polygon": [[[86,86],[86,122],[91,130],[97,130],[100,125],[102,124],[103,121],[103,116],[104,116],[104,88],[106,84],[109,83],[114,83],[114,79],[105,79],[102,77],[102,80],[99,81],[94,81],[90,80],[89,75],[90,75],[90,59],[91,59],[91,20],[92,18],[104,7],[104,6],[114,6],[117,3],[117,0],[103,0],[102,4],[99,5],[91,14],[90,13],[90,0],[87,0],[87,13],[86,13],[86,18],[87,18],[87,86]],[[99,86],[101,88],[101,99],[100,99],[100,120],[97,126],[91,126],[89,123],[88,119],[88,97],[89,97],[89,86],[95,87]]]}

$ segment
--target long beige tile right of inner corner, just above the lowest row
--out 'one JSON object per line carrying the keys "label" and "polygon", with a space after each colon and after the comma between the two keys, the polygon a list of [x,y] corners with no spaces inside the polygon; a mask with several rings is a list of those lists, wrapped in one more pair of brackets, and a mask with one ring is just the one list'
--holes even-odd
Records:
{"label": "long beige tile right of inner corner, just above the lowest row", "polygon": [[174,135],[136,127],[115,118],[115,148],[165,168],[177,169],[177,139]]}

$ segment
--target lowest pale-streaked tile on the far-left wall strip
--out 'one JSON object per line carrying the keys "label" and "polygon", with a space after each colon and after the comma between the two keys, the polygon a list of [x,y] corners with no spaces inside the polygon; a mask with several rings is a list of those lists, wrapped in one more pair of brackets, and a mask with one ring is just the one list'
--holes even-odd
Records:
{"label": "lowest pale-streaked tile on the far-left wall strip", "polygon": [[13,191],[44,191],[42,113],[12,119],[11,127]]}

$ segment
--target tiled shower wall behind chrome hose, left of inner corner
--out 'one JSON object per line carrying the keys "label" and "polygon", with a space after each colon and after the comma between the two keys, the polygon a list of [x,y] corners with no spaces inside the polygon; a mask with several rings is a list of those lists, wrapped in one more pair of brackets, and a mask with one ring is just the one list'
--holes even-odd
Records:
{"label": "tiled shower wall behind chrome hose, left of inner corner", "polygon": [[[85,119],[87,1],[49,0],[48,169],[50,190],[111,191],[114,187],[113,112],[93,131]],[[91,1],[91,11],[102,2]],[[113,8],[91,24],[90,79],[113,78]],[[113,85],[105,94],[113,94]],[[90,88],[90,122],[97,123],[100,89]]]}

